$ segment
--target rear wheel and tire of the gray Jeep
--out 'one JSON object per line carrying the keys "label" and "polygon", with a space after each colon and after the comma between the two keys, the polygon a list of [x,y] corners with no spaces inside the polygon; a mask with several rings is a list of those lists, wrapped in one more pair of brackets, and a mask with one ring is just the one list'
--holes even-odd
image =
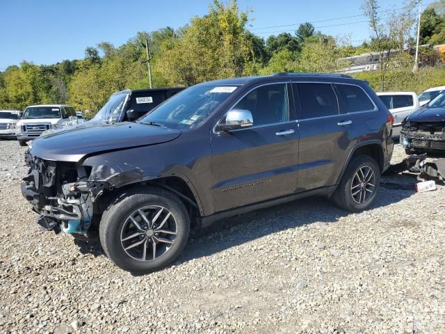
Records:
{"label": "rear wheel and tire of the gray Jeep", "polygon": [[367,155],[353,157],[346,168],[332,200],[349,212],[361,212],[375,200],[380,188],[380,168]]}

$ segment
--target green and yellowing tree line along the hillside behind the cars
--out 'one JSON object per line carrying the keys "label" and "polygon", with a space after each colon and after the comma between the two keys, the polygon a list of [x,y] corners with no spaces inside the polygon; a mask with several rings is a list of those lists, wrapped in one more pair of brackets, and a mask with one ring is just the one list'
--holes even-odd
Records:
{"label": "green and yellowing tree line along the hillside behind the cars", "polygon": [[[369,20],[370,39],[353,46],[348,38],[316,31],[310,23],[294,33],[270,35],[266,40],[248,27],[250,12],[236,0],[214,0],[203,17],[193,17],[179,29],[165,27],[138,32],[125,44],[100,42],[87,47],[85,57],[54,65],[22,62],[0,72],[0,109],[24,109],[29,104],[69,103],[76,109],[97,111],[117,90],[147,88],[147,56],[154,87],[191,86],[224,77],[273,72],[336,72],[347,66],[339,58],[375,51],[380,69],[356,74],[376,90],[415,90],[445,84],[442,67],[422,67],[412,73],[414,59],[405,52],[414,45],[416,1],[406,10],[380,13],[377,0],[365,0],[362,13]],[[423,11],[421,43],[445,43],[445,0]],[[397,58],[385,58],[385,50],[399,49]],[[428,53],[429,51],[424,51]]]}

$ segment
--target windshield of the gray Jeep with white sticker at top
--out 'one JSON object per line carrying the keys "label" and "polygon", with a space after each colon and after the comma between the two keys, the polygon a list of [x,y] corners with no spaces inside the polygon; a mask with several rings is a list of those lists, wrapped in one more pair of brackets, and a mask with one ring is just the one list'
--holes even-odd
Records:
{"label": "windshield of the gray Jeep with white sticker at top", "polygon": [[207,118],[236,89],[236,86],[197,85],[173,96],[141,118],[173,129],[190,128]]}

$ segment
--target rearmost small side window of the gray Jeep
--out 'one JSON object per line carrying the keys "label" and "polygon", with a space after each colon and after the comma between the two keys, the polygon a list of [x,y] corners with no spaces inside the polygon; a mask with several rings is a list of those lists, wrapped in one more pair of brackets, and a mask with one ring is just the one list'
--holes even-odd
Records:
{"label": "rearmost small side window of the gray Jeep", "polygon": [[334,85],[339,95],[341,113],[357,113],[359,111],[371,111],[374,104],[368,95],[359,86],[336,84]]}

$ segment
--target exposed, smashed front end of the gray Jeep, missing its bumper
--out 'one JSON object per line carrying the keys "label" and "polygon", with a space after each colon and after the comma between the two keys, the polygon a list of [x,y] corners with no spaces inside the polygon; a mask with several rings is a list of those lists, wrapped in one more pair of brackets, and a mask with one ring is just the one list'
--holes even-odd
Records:
{"label": "exposed, smashed front end of the gray Jeep, missing its bumper", "polygon": [[109,189],[108,184],[88,180],[88,166],[44,160],[30,153],[25,161],[30,169],[22,181],[22,193],[39,214],[42,230],[88,237],[98,212],[95,202]]}

